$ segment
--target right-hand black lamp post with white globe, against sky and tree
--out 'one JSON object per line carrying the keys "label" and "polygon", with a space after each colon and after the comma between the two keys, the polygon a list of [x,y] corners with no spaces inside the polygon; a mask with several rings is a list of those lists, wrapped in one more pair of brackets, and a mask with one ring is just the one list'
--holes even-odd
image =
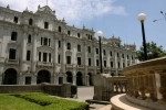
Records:
{"label": "right-hand black lamp post with white globe, against sky and tree", "polygon": [[144,61],[147,61],[147,48],[146,48],[146,38],[145,38],[145,30],[144,30],[144,21],[146,19],[146,14],[139,13],[137,19],[141,21],[141,24],[142,24],[143,45],[144,45]]}

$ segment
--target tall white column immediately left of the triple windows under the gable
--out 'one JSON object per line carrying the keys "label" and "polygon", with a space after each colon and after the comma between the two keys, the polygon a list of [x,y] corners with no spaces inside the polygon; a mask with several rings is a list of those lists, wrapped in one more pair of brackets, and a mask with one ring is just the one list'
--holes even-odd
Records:
{"label": "tall white column immediately left of the triple windows under the gable", "polygon": [[32,73],[35,73],[35,65],[37,65],[37,36],[38,36],[38,30],[34,29],[34,35],[33,35],[33,48],[32,48]]}

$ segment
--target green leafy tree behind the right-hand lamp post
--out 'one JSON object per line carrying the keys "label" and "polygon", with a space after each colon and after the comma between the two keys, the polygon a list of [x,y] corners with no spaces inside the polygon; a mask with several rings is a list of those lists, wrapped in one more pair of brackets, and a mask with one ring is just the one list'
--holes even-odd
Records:
{"label": "green leafy tree behind the right-hand lamp post", "polygon": [[[163,50],[163,46],[157,46],[157,44],[154,42],[146,43],[146,48],[147,48],[147,59],[166,56],[166,51]],[[139,51],[137,51],[137,58],[141,62],[144,61],[144,46],[143,45],[141,46]]]}

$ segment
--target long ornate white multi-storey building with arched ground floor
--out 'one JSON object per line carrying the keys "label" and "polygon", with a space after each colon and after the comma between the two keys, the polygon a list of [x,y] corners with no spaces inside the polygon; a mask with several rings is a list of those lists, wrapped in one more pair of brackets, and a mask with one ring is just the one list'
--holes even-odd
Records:
{"label": "long ornate white multi-storey building with arched ground floor", "polygon": [[[73,82],[93,85],[100,73],[98,42],[94,31],[66,25],[48,6],[33,13],[0,8],[0,84]],[[135,45],[103,38],[103,72],[121,75],[135,63]]]}

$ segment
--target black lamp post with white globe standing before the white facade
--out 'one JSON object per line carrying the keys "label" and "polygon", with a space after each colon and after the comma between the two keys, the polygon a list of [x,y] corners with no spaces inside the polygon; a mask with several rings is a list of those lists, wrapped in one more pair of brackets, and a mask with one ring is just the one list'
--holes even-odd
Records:
{"label": "black lamp post with white globe standing before the white facade", "polygon": [[101,40],[103,37],[103,32],[102,31],[97,31],[97,36],[98,36],[98,41],[100,41],[100,63],[101,63],[101,74],[103,74],[103,66],[102,66],[102,44],[101,44]]}

